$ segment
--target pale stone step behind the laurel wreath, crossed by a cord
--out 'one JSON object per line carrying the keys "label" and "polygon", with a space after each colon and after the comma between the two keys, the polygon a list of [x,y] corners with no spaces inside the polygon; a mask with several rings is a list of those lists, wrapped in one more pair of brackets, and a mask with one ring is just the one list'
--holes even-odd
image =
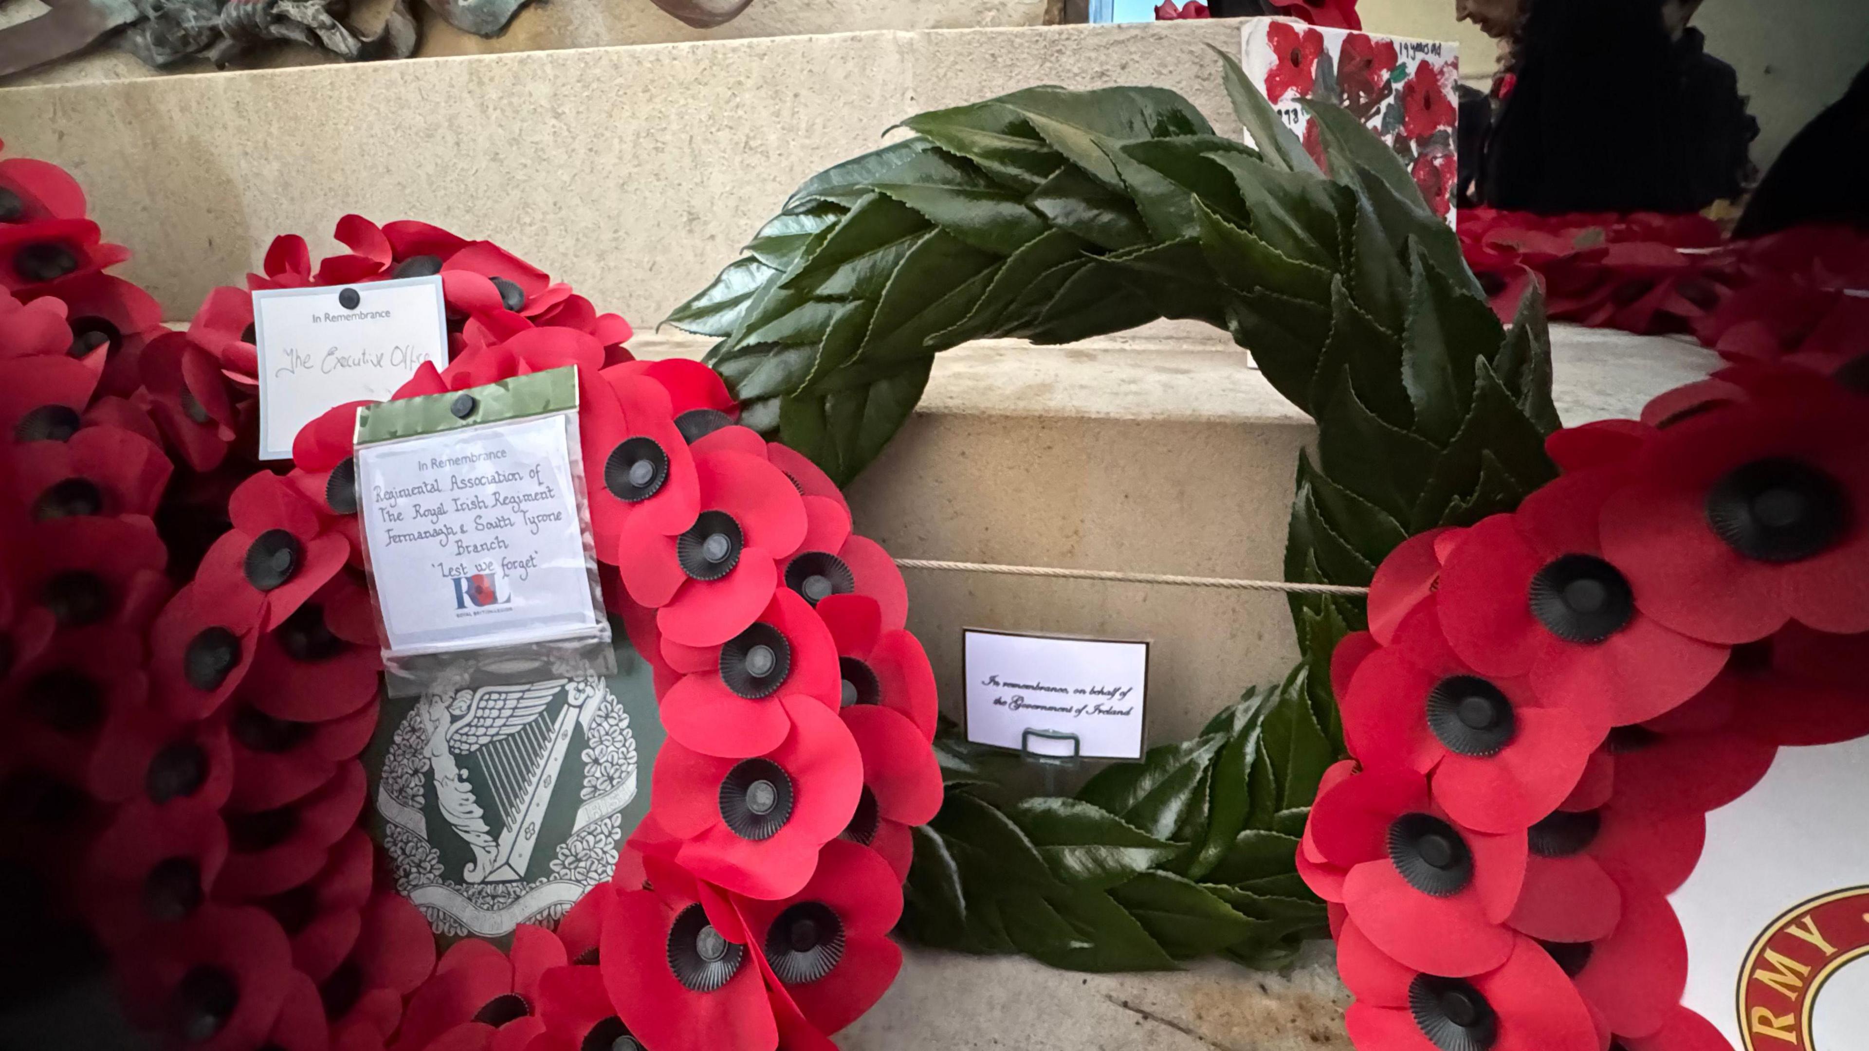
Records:
{"label": "pale stone step behind the laurel wreath, crossed by a cord", "polygon": [[[1570,425],[1632,417],[1706,376],[1671,338],[1559,325]],[[708,340],[645,335],[643,357]],[[1222,333],[1155,324],[1071,346],[944,352],[914,417],[850,486],[856,527],[895,557],[1282,580],[1299,449],[1316,434]],[[961,713],[961,628],[1151,640],[1151,744],[1181,741],[1297,660],[1267,591],[905,570],[910,628]]]}

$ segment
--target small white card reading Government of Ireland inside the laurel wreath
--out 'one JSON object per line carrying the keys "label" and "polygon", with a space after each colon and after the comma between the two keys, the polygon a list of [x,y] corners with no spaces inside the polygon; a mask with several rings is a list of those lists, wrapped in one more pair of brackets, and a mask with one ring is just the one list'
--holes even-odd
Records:
{"label": "small white card reading Government of Ireland inside the laurel wreath", "polygon": [[966,739],[1034,756],[1140,759],[1149,643],[961,632]]}

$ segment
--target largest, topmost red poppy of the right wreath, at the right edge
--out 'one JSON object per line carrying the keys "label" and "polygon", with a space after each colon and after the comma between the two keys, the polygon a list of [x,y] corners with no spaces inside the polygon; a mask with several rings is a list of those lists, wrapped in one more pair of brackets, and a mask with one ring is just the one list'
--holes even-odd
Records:
{"label": "largest, topmost red poppy of the right wreath, at the right edge", "polygon": [[1869,630],[1869,456],[1858,417],[1832,387],[1662,430],[1602,505],[1604,557],[1641,612],[1733,645],[1789,619]]}

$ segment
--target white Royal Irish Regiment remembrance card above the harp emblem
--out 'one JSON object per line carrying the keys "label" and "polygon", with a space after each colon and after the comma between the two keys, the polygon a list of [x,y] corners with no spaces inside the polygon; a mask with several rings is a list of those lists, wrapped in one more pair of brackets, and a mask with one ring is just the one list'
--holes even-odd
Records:
{"label": "white Royal Irish Regiment remembrance card above the harp emblem", "polygon": [[359,445],[357,492],[389,653],[598,626],[563,415]]}

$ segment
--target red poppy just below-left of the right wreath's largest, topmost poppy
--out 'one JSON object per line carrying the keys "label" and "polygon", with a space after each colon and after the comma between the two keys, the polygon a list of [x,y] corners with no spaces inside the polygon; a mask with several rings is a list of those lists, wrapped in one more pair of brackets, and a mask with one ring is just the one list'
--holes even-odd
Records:
{"label": "red poppy just below-left of the right wreath's largest, topmost poppy", "polygon": [[1727,647],[1647,615],[1604,557],[1598,518],[1619,469],[1564,475],[1475,526],[1441,567],[1441,628],[1488,675],[1525,675],[1548,703],[1620,726],[1706,686]]}

